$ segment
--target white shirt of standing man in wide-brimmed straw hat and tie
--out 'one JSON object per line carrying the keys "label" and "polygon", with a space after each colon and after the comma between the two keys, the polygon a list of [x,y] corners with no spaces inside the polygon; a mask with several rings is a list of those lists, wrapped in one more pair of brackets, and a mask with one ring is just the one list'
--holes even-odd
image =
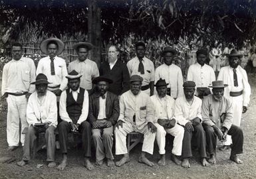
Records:
{"label": "white shirt of standing man in wide-brimmed straw hat and tie", "polygon": [[[51,83],[48,86],[53,87],[48,88],[48,90],[53,91],[60,89],[63,91],[68,84],[68,79],[66,78],[68,75],[66,70],[66,62],[63,58],[59,58],[58,56],[55,56],[55,60],[53,62],[55,64],[55,75],[51,75],[51,60],[49,56],[39,60],[39,64],[37,66],[37,75],[43,73],[47,76],[48,82]],[[59,88],[54,88],[59,85],[61,85]]]}

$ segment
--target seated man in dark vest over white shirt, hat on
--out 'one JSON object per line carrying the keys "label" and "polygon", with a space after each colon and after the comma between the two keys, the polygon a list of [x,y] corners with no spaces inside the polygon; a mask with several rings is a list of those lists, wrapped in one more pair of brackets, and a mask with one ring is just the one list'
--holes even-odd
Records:
{"label": "seated man in dark vest over white shirt, hat on", "polygon": [[70,72],[66,78],[68,79],[68,89],[61,93],[60,98],[60,116],[63,121],[59,123],[59,142],[63,160],[59,164],[59,170],[64,170],[67,164],[67,143],[68,133],[80,133],[82,139],[82,150],[84,154],[84,166],[88,170],[92,170],[90,163],[91,156],[91,127],[86,121],[88,117],[89,98],[88,92],[80,88],[80,77],[75,70]]}

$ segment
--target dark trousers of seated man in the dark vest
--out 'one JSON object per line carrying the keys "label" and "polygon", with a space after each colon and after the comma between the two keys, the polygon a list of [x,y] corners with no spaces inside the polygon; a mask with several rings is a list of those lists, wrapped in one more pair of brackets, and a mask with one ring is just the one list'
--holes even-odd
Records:
{"label": "dark trousers of seated man in the dark vest", "polygon": [[[59,142],[61,145],[61,152],[67,153],[67,143],[68,143],[68,133],[70,133],[71,126],[66,121],[62,121],[58,125],[59,131]],[[84,152],[84,156],[91,156],[91,140],[92,140],[92,131],[90,127],[90,123],[88,121],[83,121],[78,129],[78,132],[82,135],[82,150]]]}

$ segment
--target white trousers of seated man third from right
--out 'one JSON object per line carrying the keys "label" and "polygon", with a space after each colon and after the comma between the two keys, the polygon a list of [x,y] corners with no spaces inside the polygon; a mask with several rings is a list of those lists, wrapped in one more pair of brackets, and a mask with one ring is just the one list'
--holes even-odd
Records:
{"label": "white trousers of seated man third from right", "polygon": [[174,145],[172,148],[172,153],[178,156],[182,155],[184,127],[176,124],[171,129],[164,129],[164,127],[162,127],[162,125],[159,125],[158,123],[155,123],[154,125],[156,126],[156,128],[158,128],[158,131],[156,132],[156,141],[158,142],[159,153],[166,153],[166,133],[169,133],[170,135],[174,136]]}

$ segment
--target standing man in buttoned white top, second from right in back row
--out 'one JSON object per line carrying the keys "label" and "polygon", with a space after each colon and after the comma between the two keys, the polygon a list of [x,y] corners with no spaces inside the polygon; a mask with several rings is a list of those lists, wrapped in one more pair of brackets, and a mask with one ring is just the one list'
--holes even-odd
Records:
{"label": "standing man in buttoned white top, second from right in back row", "polygon": [[206,64],[207,56],[207,49],[197,50],[197,62],[188,68],[187,81],[195,82],[195,95],[201,99],[203,99],[203,96],[207,96],[211,93],[208,86],[216,79],[213,68]]}

